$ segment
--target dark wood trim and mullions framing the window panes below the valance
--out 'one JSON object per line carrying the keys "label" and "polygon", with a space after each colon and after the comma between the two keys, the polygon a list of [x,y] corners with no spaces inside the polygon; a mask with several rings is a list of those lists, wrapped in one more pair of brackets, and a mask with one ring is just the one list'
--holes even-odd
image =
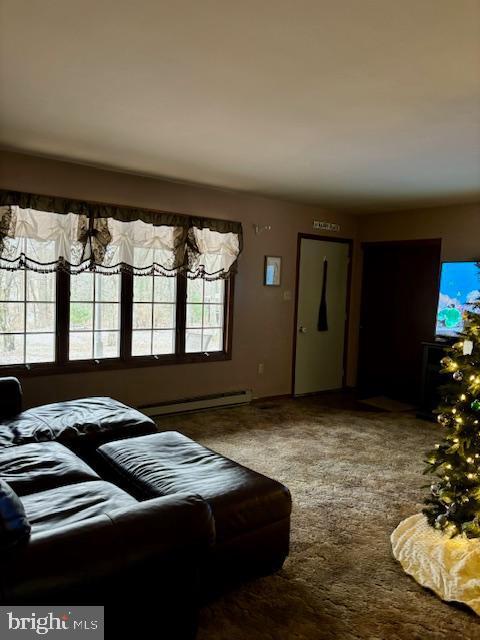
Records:
{"label": "dark wood trim and mullions framing the window panes below the valance", "polygon": [[21,377],[58,375],[67,373],[91,373],[95,371],[115,371],[162,365],[195,364],[204,362],[223,362],[232,359],[233,343],[233,306],[235,276],[225,280],[224,324],[222,351],[211,353],[185,353],[185,324],[187,313],[187,278],[183,274],[177,278],[175,351],[173,354],[132,356],[132,318],[133,318],[133,274],[121,274],[120,299],[120,356],[99,360],[69,360],[70,337],[70,274],[65,271],[56,273],[56,311],[55,311],[55,362],[32,364],[0,365],[1,375]]}

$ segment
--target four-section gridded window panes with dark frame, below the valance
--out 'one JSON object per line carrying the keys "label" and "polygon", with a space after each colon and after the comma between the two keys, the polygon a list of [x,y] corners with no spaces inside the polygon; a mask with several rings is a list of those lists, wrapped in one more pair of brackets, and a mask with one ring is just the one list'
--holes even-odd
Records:
{"label": "four-section gridded window panes with dark frame, below the valance", "polygon": [[232,288],[232,279],[0,269],[0,366],[226,359]]}

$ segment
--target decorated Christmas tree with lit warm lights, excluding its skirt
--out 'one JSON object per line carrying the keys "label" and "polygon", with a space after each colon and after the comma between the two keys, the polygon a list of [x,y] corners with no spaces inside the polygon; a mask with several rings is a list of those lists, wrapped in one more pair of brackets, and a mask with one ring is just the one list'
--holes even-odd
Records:
{"label": "decorated Christmas tree with lit warm lights, excluding its skirt", "polygon": [[[478,265],[477,265],[478,266]],[[438,422],[443,440],[429,451],[425,473],[436,476],[423,513],[453,537],[480,537],[480,301],[464,313],[464,329],[442,359],[448,376]]]}

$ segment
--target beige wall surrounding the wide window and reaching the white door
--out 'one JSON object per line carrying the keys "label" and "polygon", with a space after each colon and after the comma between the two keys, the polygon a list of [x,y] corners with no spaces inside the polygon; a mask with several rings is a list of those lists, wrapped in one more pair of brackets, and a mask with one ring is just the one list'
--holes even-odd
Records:
{"label": "beige wall surrounding the wide window and reaching the white door", "polygon": [[[235,286],[231,361],[25,378],[27,405],[88,394],[142,405],[237,389],[253,389],[259,397],[290,393],[297,234],[313,233],[312,220],[317,218],[339,223],[343,237],[356,236],[355,217],[318,207],[10,152],[0,154],[0,188],[234,219],[243,223],[245,236]],[[256,236],[253,224],[271,225],[272,230]],[[283,257],[281,288],[262,285],[267,254]],[[291,301],[284,301],[285,290],[292,292]],[[354,310],[357,303],[354,291]],[[354,382],[356,326],[352,313],[349,384]],[[260,362],[263,375],[257,373]]]}

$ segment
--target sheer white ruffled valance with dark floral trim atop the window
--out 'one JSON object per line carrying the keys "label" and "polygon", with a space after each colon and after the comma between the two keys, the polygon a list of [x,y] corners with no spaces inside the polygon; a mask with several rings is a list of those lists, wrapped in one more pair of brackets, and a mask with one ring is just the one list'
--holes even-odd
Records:
{"label": "sheer white ruffled valance with dark floral trim atop the window", "polygon": [[239,222],[0,191],[0,268],[130,270],[214,280],[236,270]]}

